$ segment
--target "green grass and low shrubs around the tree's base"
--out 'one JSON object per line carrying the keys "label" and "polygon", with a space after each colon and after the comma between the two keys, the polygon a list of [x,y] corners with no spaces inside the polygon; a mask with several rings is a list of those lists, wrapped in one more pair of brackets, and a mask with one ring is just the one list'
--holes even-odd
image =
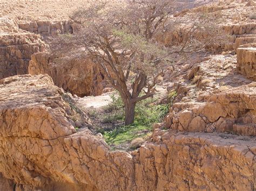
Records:
{"label": "green grass and low shrubs around the tree's base", "polygon": [[152,124],[159,123],[169,112],[169,104],[157,103],[157,98],[147,98],[136,104],[135,120],[131,125],[125,126],[125,108],[120,96],[112,96],[112,102],[107,105],[103,123],[116,124],[113,128],[98,129],[107,144],[116,146],[129,144],[133,139],[146,137],[151,133]]}

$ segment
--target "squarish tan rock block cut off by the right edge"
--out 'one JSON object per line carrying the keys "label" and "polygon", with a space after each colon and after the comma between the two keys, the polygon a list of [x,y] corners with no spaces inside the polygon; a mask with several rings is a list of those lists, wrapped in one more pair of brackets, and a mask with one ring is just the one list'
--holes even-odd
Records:
{"label": "squarish tan rock block cut off by the right edge", "polygon": [[237,49],[237,69],[256,81],[256,43],[242,45]]}

